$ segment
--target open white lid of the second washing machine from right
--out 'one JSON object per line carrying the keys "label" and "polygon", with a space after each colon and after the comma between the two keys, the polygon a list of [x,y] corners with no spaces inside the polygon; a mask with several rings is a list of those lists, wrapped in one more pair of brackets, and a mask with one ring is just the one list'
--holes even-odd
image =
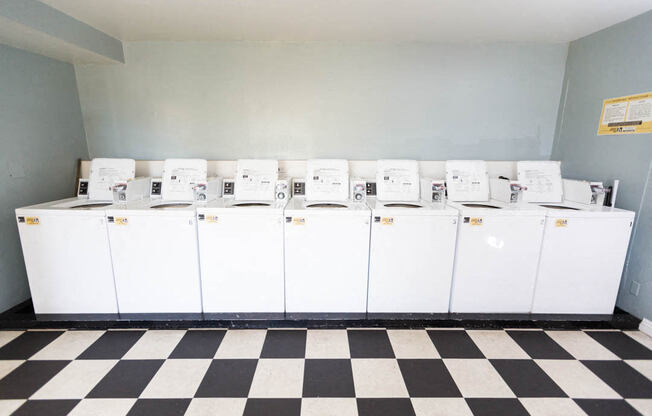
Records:
{"label": "open white lid of the second washing machine from right", "polygon": [[446,161],[449,201],[488,201],[489,173],[484,160]]}

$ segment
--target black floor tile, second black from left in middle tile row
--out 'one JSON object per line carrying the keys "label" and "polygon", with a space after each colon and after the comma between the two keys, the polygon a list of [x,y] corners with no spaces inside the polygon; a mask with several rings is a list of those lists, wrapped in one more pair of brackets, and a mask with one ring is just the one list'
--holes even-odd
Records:
{"label": "black floor tile, second black from left in middle tile row", "polygon": [[88,398],[137,398],[164,360],[122,360],[88,394]]}

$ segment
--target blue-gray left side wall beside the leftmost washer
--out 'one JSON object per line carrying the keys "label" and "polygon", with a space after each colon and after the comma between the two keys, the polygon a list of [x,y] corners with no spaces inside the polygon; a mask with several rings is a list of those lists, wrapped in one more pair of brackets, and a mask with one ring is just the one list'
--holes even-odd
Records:
{"label": "blue-gray left side wall beside the leftmost washer", "polygon": [[14,209],[72,196],[80,157],[73,66],[0,45],[0,311],[29,298]]}

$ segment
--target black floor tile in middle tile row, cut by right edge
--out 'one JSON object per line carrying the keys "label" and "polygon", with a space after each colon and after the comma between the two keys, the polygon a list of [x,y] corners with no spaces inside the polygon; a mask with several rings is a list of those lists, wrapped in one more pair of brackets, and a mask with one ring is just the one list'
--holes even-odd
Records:
{"label": "black floor tile in middle tile row, cut by right edge", "polygon": [[625,399],[652,399],[652,381],[623,361],[582,361]]}

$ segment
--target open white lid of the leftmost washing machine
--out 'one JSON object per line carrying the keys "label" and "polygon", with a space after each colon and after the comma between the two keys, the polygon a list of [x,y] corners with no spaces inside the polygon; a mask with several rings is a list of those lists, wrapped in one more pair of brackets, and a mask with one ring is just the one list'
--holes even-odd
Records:
{"label": "open white lid of the leftmost washing machine", "polygon": [[93,159],[88,177],[88,199],[112,200],[113,186],[136,176],[134,159]]}

